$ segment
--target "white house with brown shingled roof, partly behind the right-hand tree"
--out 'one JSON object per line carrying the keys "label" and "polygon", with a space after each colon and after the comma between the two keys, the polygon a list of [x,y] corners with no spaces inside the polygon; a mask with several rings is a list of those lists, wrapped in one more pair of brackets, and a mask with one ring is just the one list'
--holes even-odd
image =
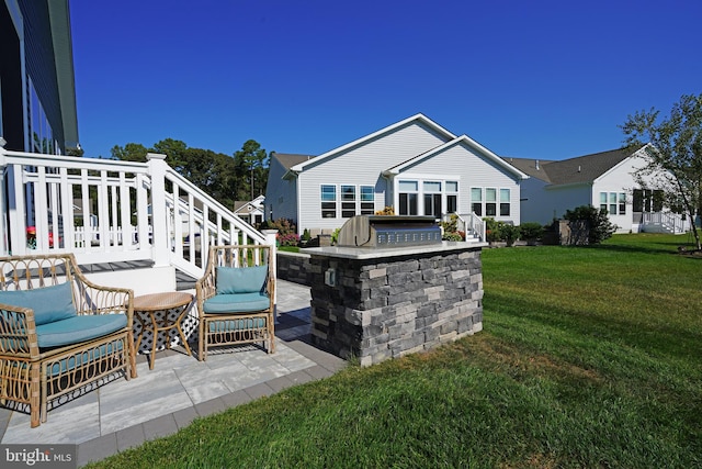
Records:
{"label": "white house with brown shingled roof, partly behind the right-hand tree", "polygon": [[[672,224],[680,222],[680,216],[664,206],[661,191],[636,182],[635,172],[645,166],[642,149],[613,149],[563,160],[505,158],[531,177],[521,188],[522,221],[547,224],[562,219],[567,210],[592,205],[605,209],[620,233],[654,231],[647,216],[653,213],[667,212]],[[656,231],[668,230],[658,226]]]}

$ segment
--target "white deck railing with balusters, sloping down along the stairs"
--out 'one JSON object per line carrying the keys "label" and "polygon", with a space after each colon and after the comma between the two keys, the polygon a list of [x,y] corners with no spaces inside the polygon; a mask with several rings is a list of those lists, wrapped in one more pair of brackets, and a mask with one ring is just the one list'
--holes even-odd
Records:
{"label": "white deck railing with balusters, sloping down along the stairs", "polygon": [[176,172],[147,163],[10,152],[0,146],[0,254],[70,252],[79,264],[150,259],[200,277],[213,244],[269,244]]}

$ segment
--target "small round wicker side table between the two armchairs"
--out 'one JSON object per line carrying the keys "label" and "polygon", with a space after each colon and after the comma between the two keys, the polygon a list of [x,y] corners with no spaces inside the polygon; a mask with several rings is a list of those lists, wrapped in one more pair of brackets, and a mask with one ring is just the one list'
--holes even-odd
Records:
{"label": "small round wicker side table between the two armchairs", "polygon": [[[192,356],[188,339],[181,323],[190,306],[193,302],[193,295],[181,291],[165,292],[165,293],[150,293],[136,297],[134,299],[134,317],[141,324],[141,332],[136,339],[136,350],[138,351],[146,331],[151,331],[154,334],[151,345],[151,356],[149,360],[149,369],[154,369],[154,359],[156,358],[156,343],[158,342],[158,333],[167,332],[166,348],[171,348],[170,331],[176,328],[178,335],[180,335],[183,342],[183,347],[188,355]],[[161,313],[161,314],[157,314]],[[169,316],[174,317],[171,320]],[[161,316],[160,319],[158,316]]]}

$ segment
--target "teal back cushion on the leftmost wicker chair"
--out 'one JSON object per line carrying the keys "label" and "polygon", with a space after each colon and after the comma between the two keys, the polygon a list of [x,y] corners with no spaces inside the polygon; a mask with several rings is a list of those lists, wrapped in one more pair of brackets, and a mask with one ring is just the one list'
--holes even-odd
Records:
{"label": "teal back cushion on the leftmost wicker chair", "polygon": [[33,290],[0,291],[0,303],[31,308],[37,326],[76,315],[73,290],[68,282]]}

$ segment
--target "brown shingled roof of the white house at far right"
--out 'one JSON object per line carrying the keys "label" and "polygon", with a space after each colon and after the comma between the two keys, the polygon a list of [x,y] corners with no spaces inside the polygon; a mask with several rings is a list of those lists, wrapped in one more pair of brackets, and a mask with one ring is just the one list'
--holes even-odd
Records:
{"label": "brown shingled roof of the white house at far right", "polygon": [[593,182],[634,153],[619,148],[563,160],[531,158],[505,158],[505,160],[529,176],[554,186],[563,186]]}

